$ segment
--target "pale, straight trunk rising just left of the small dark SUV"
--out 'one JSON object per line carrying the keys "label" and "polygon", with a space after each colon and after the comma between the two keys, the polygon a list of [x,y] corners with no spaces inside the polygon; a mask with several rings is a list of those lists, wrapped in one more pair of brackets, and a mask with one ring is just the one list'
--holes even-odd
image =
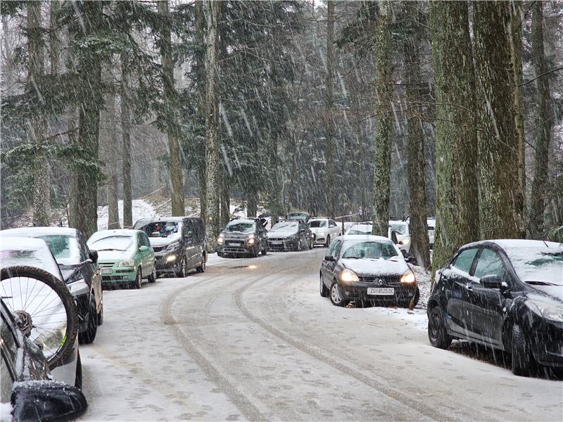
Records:
{"label": "pale, straight trunk rising just left of the small dark SUV", "polygon": [[221,15],[220,1],[208,1],[207,5],[207,51],[205,52],[205,194],[207,250],[215,250],[219,234],[219,200],[220,200],[220,158],[219,158],[219,20]]}

